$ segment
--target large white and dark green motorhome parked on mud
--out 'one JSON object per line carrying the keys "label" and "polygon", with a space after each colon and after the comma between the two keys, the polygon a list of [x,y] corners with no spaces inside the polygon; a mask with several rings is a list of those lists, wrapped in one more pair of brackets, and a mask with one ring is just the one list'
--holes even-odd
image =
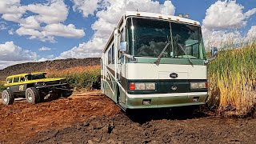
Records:
{"label": "large white and dark green motorhome parked on mud", "polygon": [[101,61],[102,92],[123,110],[206,103],[207,61],[199,22],[127,11]]}

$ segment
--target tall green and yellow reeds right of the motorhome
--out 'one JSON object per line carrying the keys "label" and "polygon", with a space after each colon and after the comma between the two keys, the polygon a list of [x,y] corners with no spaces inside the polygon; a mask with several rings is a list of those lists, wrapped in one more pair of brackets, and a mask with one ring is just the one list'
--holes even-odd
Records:
{"label": "tall green and yellow reeds right of the motorhome", "polygon": [[218,111],[247,114],[254,106],[256,91],[256,43],[222,50],[208,66],[210,104]]}

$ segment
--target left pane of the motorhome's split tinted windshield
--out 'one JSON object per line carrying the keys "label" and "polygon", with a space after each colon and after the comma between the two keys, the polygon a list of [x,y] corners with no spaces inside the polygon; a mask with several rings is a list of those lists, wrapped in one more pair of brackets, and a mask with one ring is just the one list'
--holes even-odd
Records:
{"label": "left pane of the motorhome's split tinted windshield", "polygon": [[[170,22],[133,18],[129,20],[128,30],[131,55],[158,57],[170,42]],[[163,57],[170,57],[170,48]]]}

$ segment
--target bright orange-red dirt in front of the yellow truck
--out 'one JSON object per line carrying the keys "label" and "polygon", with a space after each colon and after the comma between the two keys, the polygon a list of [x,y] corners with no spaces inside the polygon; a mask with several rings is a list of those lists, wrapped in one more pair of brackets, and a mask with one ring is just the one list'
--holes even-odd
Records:
{"label": "bright orange-red dirt in front of the yellow truck", "polygon": [[[94,92],[94,95],[97,94]],[[85,122],[92,116],[112,117],[119,112],[118,106],[105,96],[72,96],[37,105],[22,101],[4,106],[1,102],[0,143],[26,142],[38,134],[38,131],[62,129],[74,123]]]}

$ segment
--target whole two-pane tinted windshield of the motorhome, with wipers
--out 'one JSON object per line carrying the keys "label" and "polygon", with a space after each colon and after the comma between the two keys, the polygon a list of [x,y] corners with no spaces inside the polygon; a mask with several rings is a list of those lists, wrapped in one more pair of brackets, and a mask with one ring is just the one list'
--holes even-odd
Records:
{"label": "whole two-pane tinted windshield of the motorhome, with wipers", "polygon": [[138,57],[206,59],[199,26],[148,18],[128,18],[129,54]]}

